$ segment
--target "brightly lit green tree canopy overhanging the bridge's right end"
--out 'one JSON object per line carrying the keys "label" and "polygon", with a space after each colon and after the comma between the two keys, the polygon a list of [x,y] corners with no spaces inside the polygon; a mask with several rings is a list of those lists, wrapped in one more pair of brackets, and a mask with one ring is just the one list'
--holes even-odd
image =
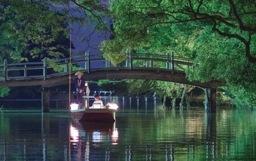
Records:
{"label": "brightly lit green tree canopy overhanging the bridge's right end", "polygon": [[[255,99],[255,1],[110,1],[114,39],[101,46],[114,64],[126,50],[194,59],[190,80],[221,80],[236,97]],[[255,106],[255,102],[249,102]]]}

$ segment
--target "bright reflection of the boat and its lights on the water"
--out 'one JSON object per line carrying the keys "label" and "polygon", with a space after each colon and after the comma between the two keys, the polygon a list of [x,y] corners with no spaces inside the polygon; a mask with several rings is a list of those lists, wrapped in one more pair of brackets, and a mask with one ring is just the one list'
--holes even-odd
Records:
{"label": "bright reflection of the boat and its lights on the water", "polygon": [[[102,125],[103,124],[103,125]],[[91,156],[95,153],[97,148],[100,148],[102,144],[116,145],[118,144],[118,129],[115,128],[115,123],[110,125],[100,123],[79,123],[73,122],[70,125],[70,154],[72,158],[79,158],[80,160],[90,160]],[[99,126],[101,125],[101,126]],[[108,128],[109,126],[109,128]],[[92,152],[91,152],[92,151]],[[106,158],[109,159],[109,149],[105,151]]]}

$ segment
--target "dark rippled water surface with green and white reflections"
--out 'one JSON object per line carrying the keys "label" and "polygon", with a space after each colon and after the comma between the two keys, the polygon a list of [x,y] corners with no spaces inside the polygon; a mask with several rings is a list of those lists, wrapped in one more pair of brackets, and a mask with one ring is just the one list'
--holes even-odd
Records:
{"label": "dark rippled water surface with green and white reflections", "polygon": [[113,125],[0,112],[0,160],[255,160],[255,125],[255,111],[234,109],[127,109]]}

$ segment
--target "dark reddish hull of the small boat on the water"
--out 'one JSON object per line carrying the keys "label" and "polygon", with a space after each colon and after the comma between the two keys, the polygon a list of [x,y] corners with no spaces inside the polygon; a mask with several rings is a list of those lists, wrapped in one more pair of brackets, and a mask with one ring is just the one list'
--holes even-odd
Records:
{"label": "dark reddish hull of the small boat on the water", "polygon": [[72,118],[79,122],[115,122],[116,109],[71,109]]}

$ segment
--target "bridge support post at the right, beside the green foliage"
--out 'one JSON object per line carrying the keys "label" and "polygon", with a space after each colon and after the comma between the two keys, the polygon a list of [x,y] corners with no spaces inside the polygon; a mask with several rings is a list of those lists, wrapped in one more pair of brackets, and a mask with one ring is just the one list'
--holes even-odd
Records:
{"label": "bridge support post at the right, beside the green foliage", "polygon": [[205,110],[216,113],[216,88],[205,88]]}

